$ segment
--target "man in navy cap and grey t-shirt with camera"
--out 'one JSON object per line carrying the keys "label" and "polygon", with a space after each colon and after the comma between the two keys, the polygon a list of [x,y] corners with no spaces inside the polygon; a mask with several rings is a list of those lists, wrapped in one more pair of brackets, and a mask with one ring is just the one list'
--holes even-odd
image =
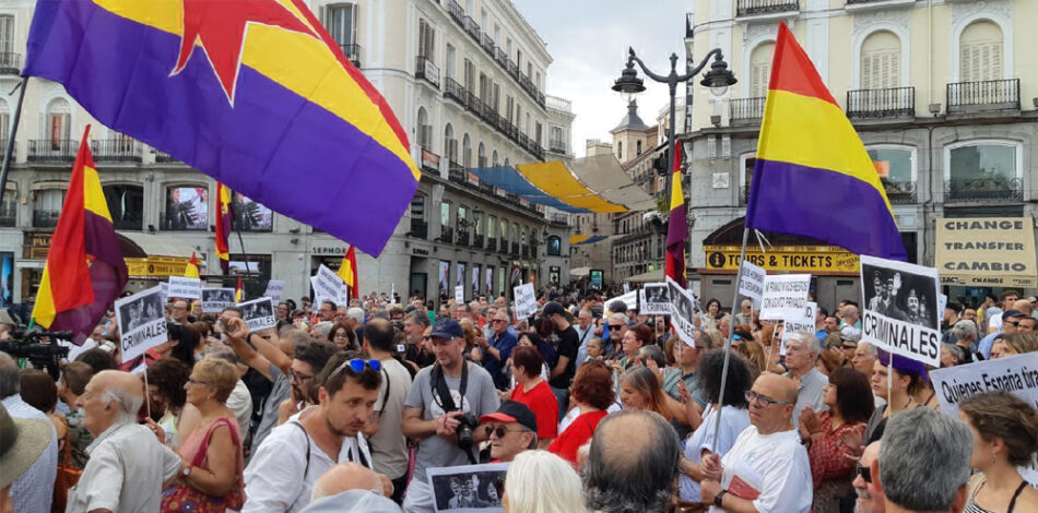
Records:
{"label": "man in navy cap and grey t-shirt with camera", "polygon": [[436,363],[414,377],[404,402],[403,434],[421,440],[403,503],[408,513],[433,512],[427,468],[476,463],[476,444],[486,440],[477,419],[500,405],[491,374],[463,358],[458,321],[436,321],[429,336]]}

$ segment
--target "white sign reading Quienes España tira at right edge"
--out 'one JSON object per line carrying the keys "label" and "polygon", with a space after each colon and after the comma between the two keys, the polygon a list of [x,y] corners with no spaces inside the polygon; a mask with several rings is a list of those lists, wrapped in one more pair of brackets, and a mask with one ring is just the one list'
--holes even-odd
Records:
{"label": "white sign reading Quienes Espa\u00f1a tira at right edge", "polygon": [[1038,408],[1038,353],[976,361],[930,371],[941,411],[958,418],[958,403],[976,394],[1001,390]]}

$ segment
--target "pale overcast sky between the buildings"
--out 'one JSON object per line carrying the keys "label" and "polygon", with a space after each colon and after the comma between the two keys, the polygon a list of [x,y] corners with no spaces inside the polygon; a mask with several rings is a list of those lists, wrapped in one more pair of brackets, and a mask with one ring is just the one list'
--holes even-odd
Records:
{"label": "pale overcast sky between the buildings", "polygon": [[[547,44],[554,62],[547,70],[547,91],[573,102],[573,145],[585,154],[585,140],[610,141],[609,131],[626,114],[626,105],[611,87],[626,62],[627,47],[658,74],[670,72],[672,52],[684,62],[685,12],[692,0],[512,0],[519,12]],[[637,68],[637,64],[635,64]],[[667,86],[646,77],[638,95],[638,114],[652,126],[668,102]],[[681,88],[679,88],[679,95]]]}

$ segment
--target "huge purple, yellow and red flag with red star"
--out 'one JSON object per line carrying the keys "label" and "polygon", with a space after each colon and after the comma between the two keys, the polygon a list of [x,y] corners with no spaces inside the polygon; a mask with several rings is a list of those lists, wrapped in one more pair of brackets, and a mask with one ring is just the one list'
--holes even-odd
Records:
{"label": "huge purple, yellow and red flag with red star", "polygon": [[47,0],[24,73],[93,117],[379,254],[417,188],[406,134],[305,0]]}

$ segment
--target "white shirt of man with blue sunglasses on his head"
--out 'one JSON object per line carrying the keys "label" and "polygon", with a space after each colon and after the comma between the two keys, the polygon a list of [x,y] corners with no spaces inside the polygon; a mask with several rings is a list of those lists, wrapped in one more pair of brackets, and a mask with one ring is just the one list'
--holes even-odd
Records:
{"label": "white shirt of man with blue sunglasses on his head", "polygon": [[[252,454],[245,469],[245,508],[241,513],[297,512],[310,503],[317,478],[337,463],[355,462],[371,468],[371,453],[364,437],[343,438],[339,457],[332,460],[303,429],[299,419],[320,406],[309,406],[274,428]],[[309,460],[307,460],[309,452]]]}

